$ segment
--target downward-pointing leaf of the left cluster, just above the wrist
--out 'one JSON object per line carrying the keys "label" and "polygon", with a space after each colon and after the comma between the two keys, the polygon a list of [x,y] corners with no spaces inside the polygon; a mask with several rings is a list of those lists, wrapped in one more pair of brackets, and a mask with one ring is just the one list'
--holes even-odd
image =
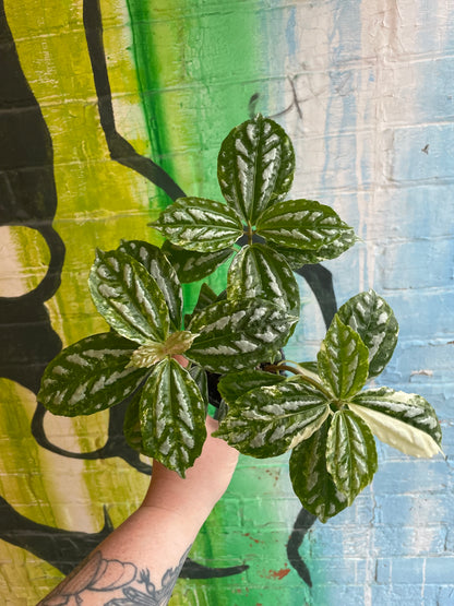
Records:
{"label": "downward-pointing leaf of the left cluster, just above the wrist", "polygon": [[206,438],[205,403],[194,380],[166,358],[146,381],[140,407],[144,452],[184,477]]}

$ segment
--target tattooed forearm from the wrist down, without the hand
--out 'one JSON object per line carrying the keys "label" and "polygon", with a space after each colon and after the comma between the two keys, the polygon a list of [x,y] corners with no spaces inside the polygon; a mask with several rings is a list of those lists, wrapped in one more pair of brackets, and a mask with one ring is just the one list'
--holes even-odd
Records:
{"label": "tattooed forearm from the wrist down, without the hand", "polygon": [[115,606],[117,599],[146,596],[164,606],[199,528],[179,514],[141,507],[40,605],[68,598],[70,604],[82,599],[84,606]]}

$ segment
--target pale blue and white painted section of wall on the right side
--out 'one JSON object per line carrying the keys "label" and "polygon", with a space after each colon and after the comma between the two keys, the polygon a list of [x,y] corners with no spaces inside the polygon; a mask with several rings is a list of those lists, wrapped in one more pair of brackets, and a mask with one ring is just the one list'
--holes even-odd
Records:
{"label": "pale blue and white painted section of wall on the right side", "polygon": [[[379,445],[372,486],[350,510],[313,528],[313,604],[447,606],[454,604],[454,16],[422,0],[377,14],[366,1],[328,4],[320,35],[328,61],[313,68],[328,87],[303,88],[306,63],[297,76],[300,96],[313,94],[303,118],[304,108],[313,115],[319,108],[323,132],[286,118],[299,133],[296,189],[333,204],[365,238],[324,264],[339,304],[363,285],[394,308],[401,341],[377,382],[418,392],[435,406],[447,460],[415,460]],[[312,10],[298,12],[294,63],[311,50],[304,16]],[[313,359],[324,333],[308,288],[303,298],[303,320],[287,347],[292,359]],[[318,583],[325,584],[323,597]]]}

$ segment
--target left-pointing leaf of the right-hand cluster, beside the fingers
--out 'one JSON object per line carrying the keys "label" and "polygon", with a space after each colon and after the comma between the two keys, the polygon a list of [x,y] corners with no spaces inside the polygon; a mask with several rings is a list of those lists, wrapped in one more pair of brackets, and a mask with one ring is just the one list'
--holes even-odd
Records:
{"label": "left-pointing leaf of the right-hand cluster, beside the fingers", "polygon": [[254,389],[230,404],[216,436],[243,454],[277,456],[307,440],[330,415],[325,395],[302,381]]}

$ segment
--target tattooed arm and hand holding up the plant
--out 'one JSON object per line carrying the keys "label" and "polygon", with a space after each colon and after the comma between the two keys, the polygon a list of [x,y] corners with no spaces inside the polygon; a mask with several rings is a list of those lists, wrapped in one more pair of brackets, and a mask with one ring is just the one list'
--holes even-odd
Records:
{"label": "tattooed arm and hand holding up the plant", "polygon": [[[207,420],[208,431],[214,423]],[[166,605],[189,548],[226,489],[236,462],[237,453],[226,442],[208,438],[184,479],[154,463],[151,486],[139,510],[40,606],[117,606],[124,603],[119,599],[151,601],[152,596],[153,603]]]}

